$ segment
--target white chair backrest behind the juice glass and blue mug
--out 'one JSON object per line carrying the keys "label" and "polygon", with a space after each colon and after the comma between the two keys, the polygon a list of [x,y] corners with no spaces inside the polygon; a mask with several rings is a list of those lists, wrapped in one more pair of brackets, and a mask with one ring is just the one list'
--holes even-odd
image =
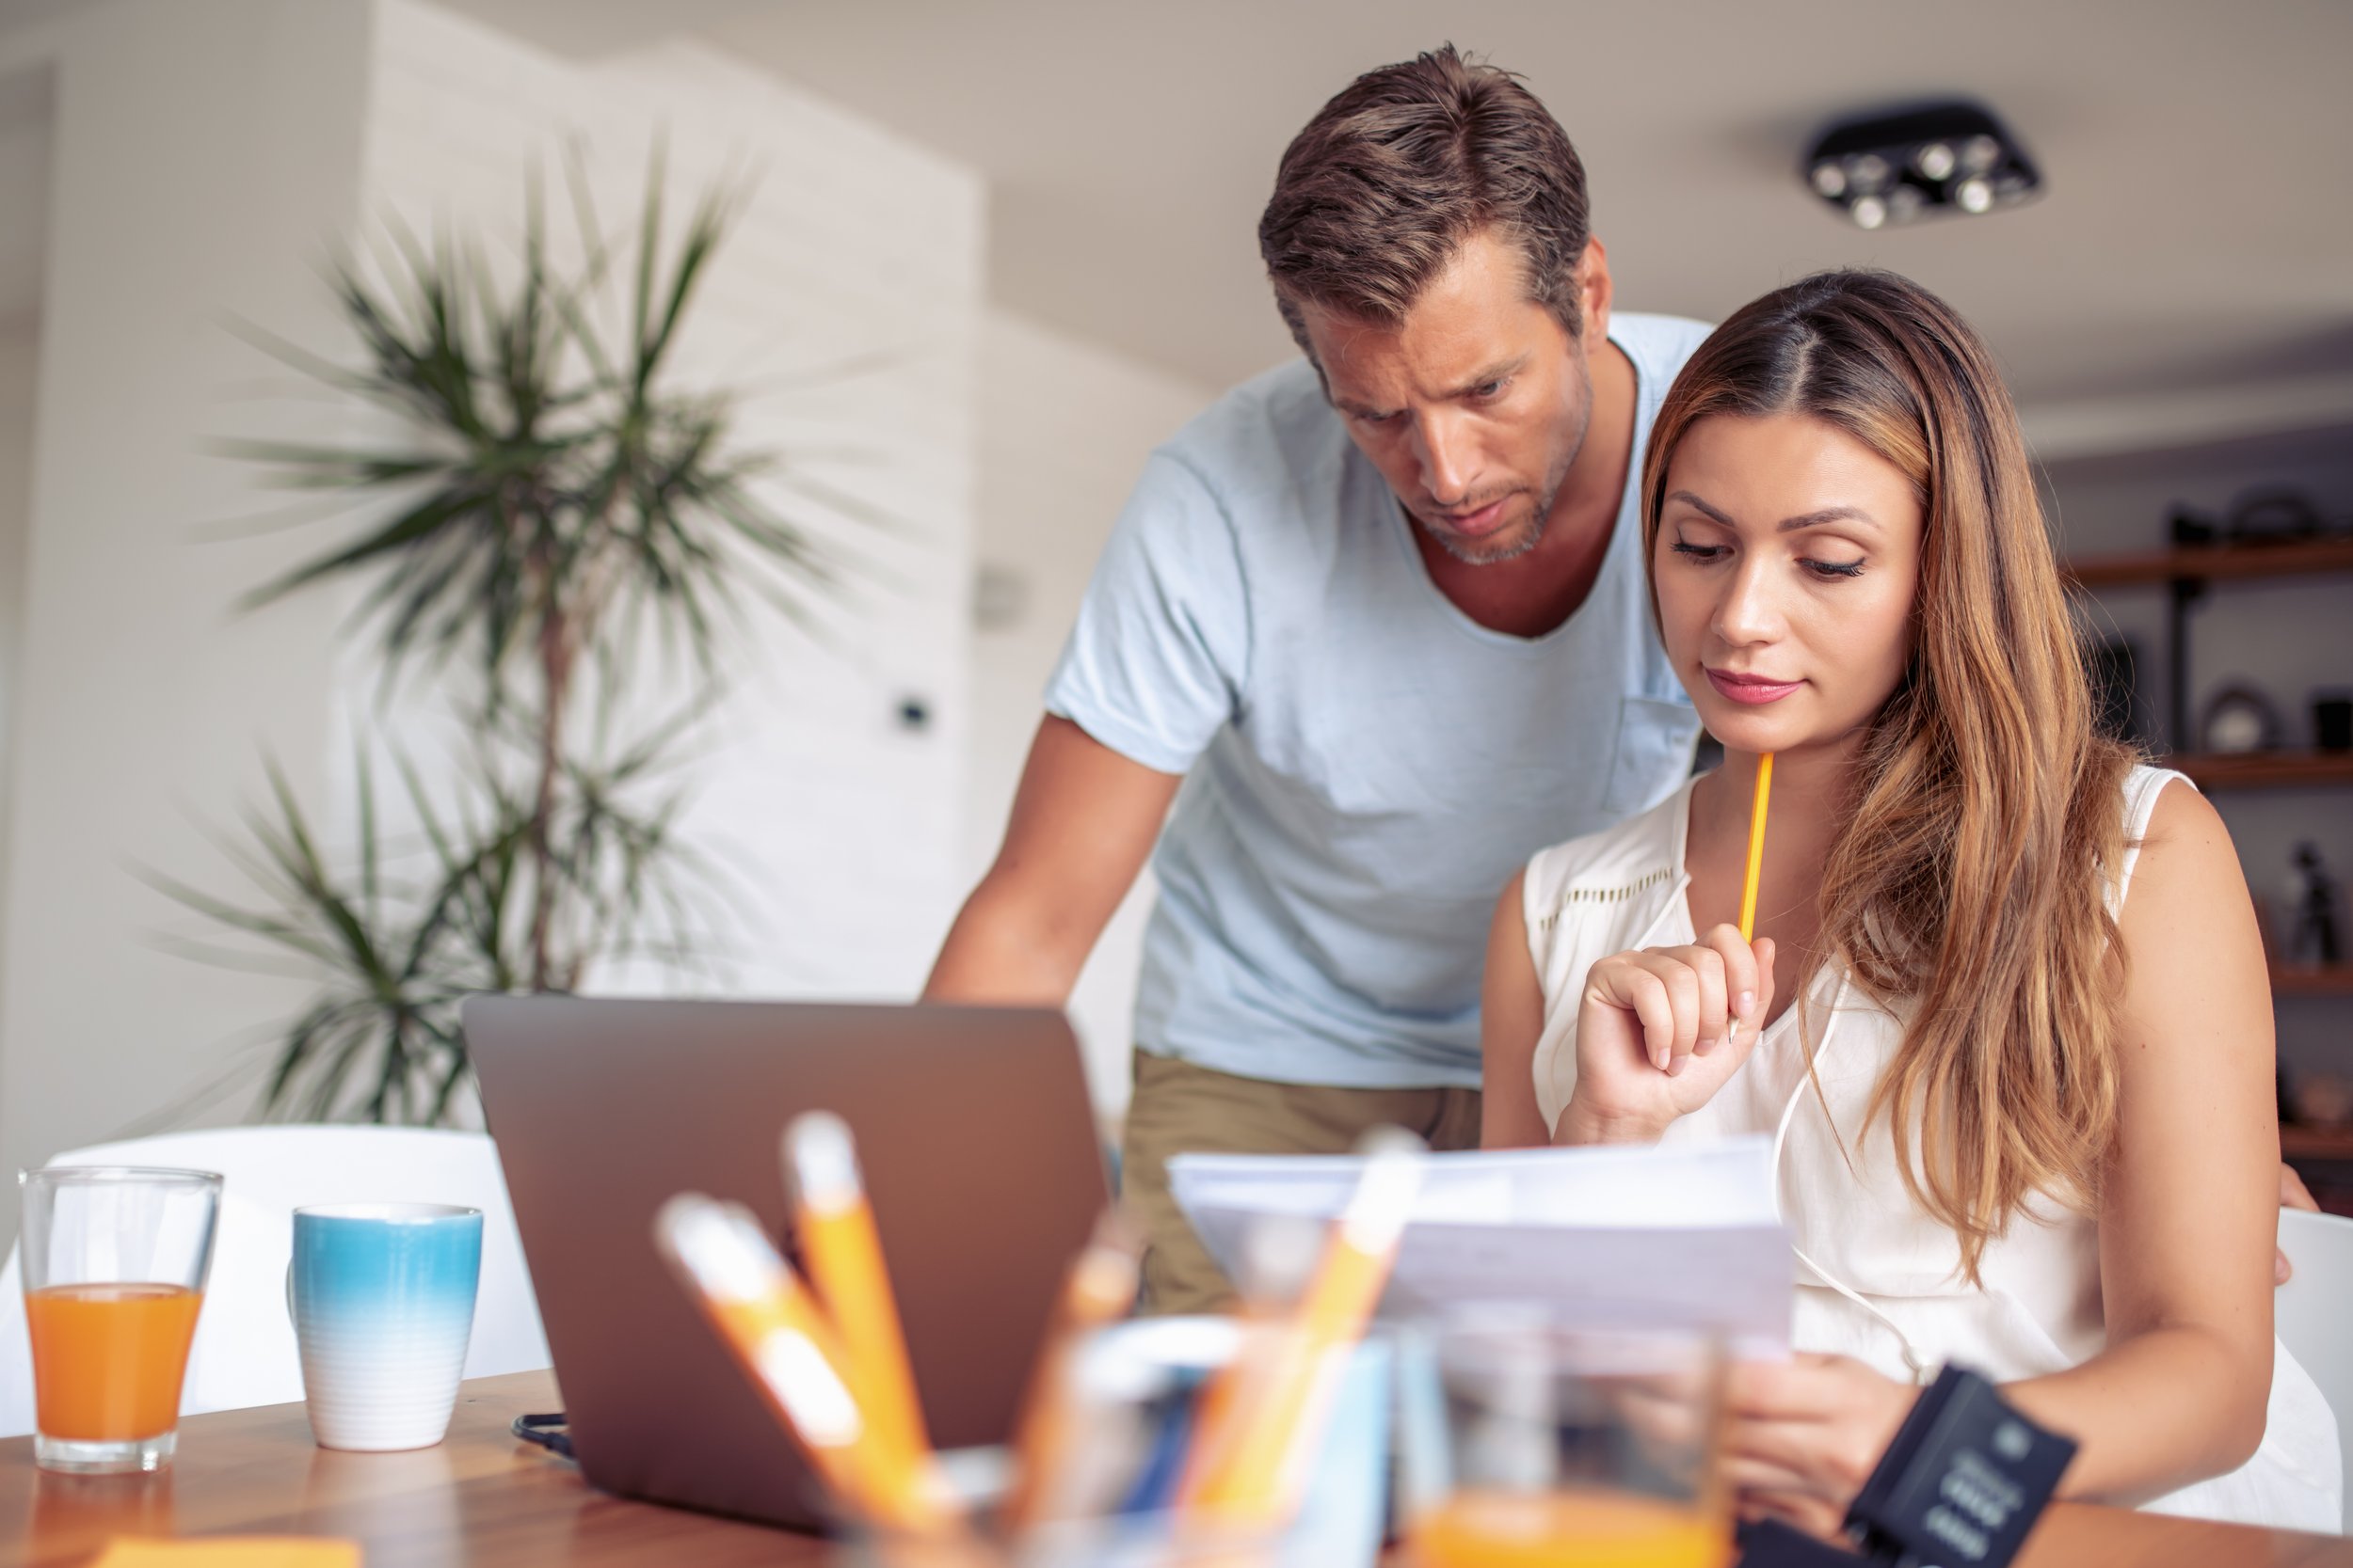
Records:
{"label": "white chair backrest behind the juice glass and blue mug", "polygon": [[[181,1413],[301,1399],[285,1272],[294,1211],[313,1204],[466,1204],[482,1211],[482,1288],[466,1375],[548,1366],[499,1154],[482,1133],[398,1126],[231,1126],[101,1143],[54,1166],[193,1166],[226,1175],[212,1284],[188,1352]],[[33,1349],[16,1253],[0,1272],[0,1436],[33,1429]]]}

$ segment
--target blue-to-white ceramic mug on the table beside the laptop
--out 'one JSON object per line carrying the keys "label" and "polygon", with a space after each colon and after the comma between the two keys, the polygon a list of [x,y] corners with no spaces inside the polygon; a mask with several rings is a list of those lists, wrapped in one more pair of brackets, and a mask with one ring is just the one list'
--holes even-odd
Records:
{"label": "blue-to-white ceramic mug on the table beside the laptop", "polygon": [[482,1279],[482,1211],[294,1211],[287,1309],[320,1448],[431,1448],[449,1429]]}

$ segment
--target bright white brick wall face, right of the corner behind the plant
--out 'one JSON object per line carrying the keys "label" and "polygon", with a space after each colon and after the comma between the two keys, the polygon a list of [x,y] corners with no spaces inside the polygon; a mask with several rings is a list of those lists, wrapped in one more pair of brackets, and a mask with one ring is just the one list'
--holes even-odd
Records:
{"label": "bright white brick wall face, right of the corner behind the plant", "polygon": [[[979,179],[692,45],[581,68],[409,0],[379,7],[376,45],[372,214],[511,244],[539,167],[565,233],[567,148],[607,228],[633,226],[656,141],[673,219],[711,183],[748,181],[675,371],[746,390],[744,447],[781,451],[887,524],[769,487],[854,585],[819,637],[769,616],[732,644],[687,835],[748,900],[722,990],[913,994],[960,893]],[[849,362],[868,367],[826,376]],[[355,672],[353,710],[369,679]],[[899,722],[906,698],[929,710],[925,729]],[[678,990],[678,976],[605,973],[598,987]]]}

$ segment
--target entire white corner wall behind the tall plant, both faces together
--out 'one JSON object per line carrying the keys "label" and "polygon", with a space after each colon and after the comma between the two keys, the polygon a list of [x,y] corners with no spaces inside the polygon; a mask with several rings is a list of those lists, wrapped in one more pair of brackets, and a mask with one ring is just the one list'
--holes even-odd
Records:
{"label": "entire white corner wall behind the tall plant, both faces together", "polygon": [[[28,49],[0,38],[0,71],[12,47]],[[814,522],[859,569],[854,602],[821,639],[769,628],[739,649],[694,769],[687,832],[751,898],[729,990],[911,994],[962,891],[979,181],[696,49],[586,68],[412,0],[111,0],[45,31],[40,54],[56,153],[21,693],[0,752],[0,1168],[207,1081],[228,1091],[200,1119],[247,1114],[271,1025],[306,985],[158,950],[205,926],[129,867],[235,893],[207,827],[259,799],[264,748],[348,827],[353,722],[431,717],[374,710],[339,628],[358,588],[233,614],[336,529],[209,538],[285,496],[205,444],[369,425],[294,395],[228,317],[344,353],[320,282],[341,240],[398,214],[478,226],[496,249],[520,233],[525,167],[553,176],[567,143],[607,223],[635,216],[656,127],[680,197],[720,169],[758,176],[678,367],[751,383],[746,444],[892,520]],[[852,357],[878,367],[809,376]],[[906,696],[927,729],[899,724]]]}

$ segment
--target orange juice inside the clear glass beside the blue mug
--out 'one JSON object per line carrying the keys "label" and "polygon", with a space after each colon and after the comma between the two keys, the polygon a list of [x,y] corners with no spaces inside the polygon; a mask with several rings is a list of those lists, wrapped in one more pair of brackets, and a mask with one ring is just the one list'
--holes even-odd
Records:
{"label": "orange juice inside the clear glass beside the blue mug", "polygon": [[202,1305],[186,1286],[26,1291],[40,1434],[108,1443],[169,1432]]}

